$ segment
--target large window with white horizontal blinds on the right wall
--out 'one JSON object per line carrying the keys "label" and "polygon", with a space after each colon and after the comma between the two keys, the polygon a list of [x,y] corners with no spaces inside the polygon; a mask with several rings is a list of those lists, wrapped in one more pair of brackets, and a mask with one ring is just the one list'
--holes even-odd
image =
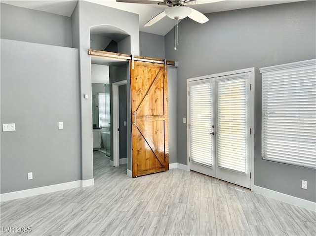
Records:
{"label": "large window with white horizontal blinds on the right wall", "polygon": [[316,169],[316,60],[260,72],[263,159]]}

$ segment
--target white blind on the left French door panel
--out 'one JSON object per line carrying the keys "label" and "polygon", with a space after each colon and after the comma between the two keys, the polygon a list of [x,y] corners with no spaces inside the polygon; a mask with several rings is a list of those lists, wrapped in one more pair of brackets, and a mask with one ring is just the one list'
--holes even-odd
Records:
{"label": "white blind on the left French door panel", "polygon": [[212,88],[209,80],[190,86],[190,160],[213,166]]}

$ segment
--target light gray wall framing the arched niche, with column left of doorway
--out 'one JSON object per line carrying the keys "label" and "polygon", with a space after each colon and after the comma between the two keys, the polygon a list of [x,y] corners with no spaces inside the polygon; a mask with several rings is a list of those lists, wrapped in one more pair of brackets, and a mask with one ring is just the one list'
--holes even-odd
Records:
{"label": "light gray wall framing the arched niche, with column left of doorway", "polygon": [[[128,19],[128,21],[126,21]],[[87,54],[90,48],[90,27],[110,25],[130,35],[130,52],[139,54],[138,15],[118,9],[79,1],[72,15],[72,37],[79,38],[80,101],[81,101],[81,169],[82,180],[93,178],[92,117],[91,117],[91,60]],[[78,41],[77,41],[78,42]],[[127,47],[128,48],[128,47]],[[87,94],[89,99],[83,98]],[[111,147],[112,149],[112,147]]]}

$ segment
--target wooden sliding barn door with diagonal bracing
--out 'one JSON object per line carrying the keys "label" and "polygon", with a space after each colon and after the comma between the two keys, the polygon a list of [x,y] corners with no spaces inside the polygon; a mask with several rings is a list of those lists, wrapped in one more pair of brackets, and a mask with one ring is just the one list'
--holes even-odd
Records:
{"label": "wooden sliding barn door with diagonal bracing", "polygon": [[168,90],[164,64],[131,63],[132,176],[169,169]]}

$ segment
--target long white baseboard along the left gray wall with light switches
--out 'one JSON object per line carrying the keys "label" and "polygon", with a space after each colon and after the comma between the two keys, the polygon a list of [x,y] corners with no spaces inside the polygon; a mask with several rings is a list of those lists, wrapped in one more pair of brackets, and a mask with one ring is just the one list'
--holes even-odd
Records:
{"label": "long white baseboard along the left gray wall with light switches", "polygon": [[0,194],[0,202],[26,198],[26,197],[32,197],[32,196],[37,196],[40,194],[47,194],[47,193],[57,192],[57,191],[66,190],[66,189],[87,187],[91,185],[94,185],[94,179],[77,180],[77,181],[72,181],[72,182],[67,182],[67,183],[43,186],[39,188],[4,193],[4,194]]}

